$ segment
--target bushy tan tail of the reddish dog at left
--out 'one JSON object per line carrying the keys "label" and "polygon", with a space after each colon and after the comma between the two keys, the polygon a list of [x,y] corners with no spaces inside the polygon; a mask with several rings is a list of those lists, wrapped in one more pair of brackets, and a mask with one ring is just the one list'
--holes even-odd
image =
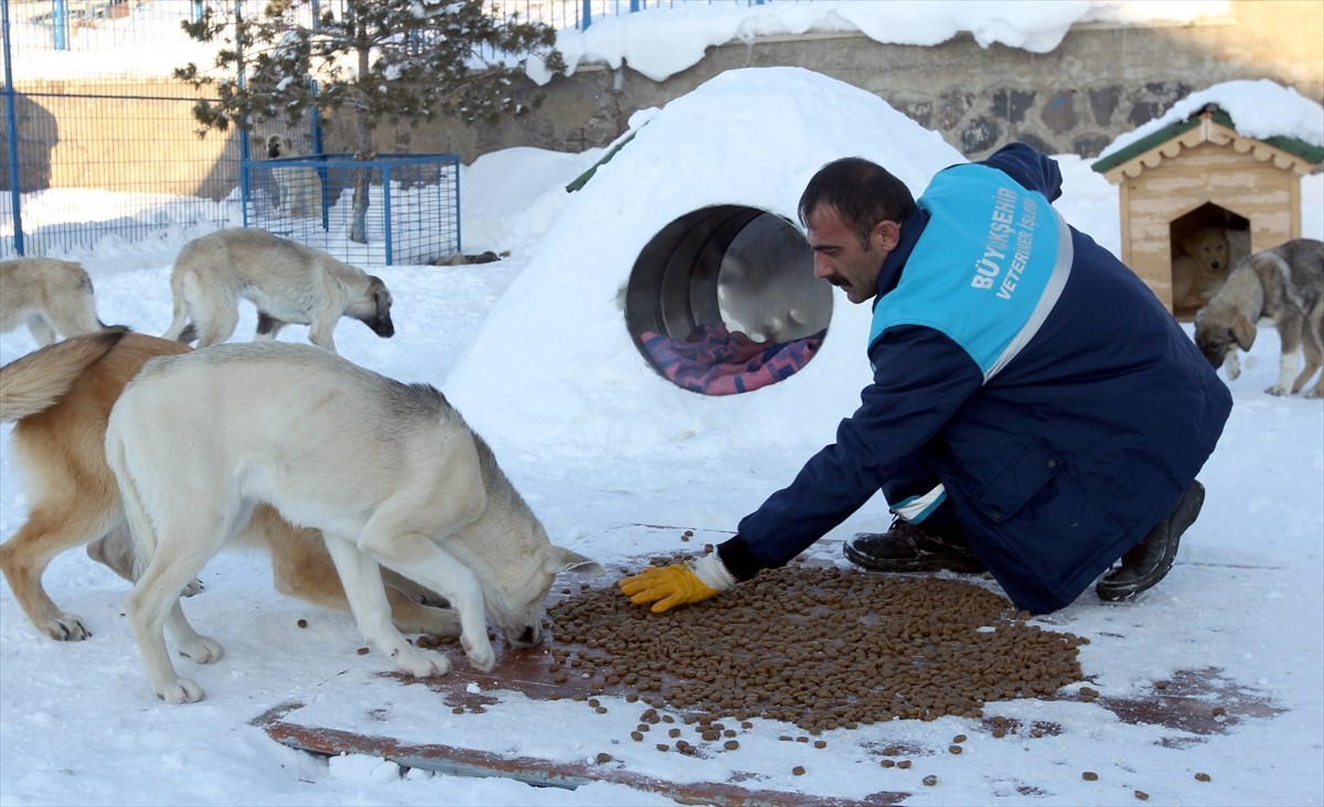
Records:
{"label": "bushy tan tail of the reddish dog at left", "polygon": [[109,328],[73,336],[0,366],[0,422],[21,421],[58,404],[82,372],[127,332]]}

